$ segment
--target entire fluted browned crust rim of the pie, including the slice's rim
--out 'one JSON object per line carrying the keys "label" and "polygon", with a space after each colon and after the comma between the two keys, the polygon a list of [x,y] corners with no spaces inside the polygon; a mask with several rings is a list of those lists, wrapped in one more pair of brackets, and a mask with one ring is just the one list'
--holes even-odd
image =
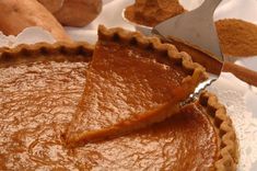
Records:
{"label": "entire fluted browned crust rim of the pie, including the slice's rim", "polygon": [[[161,45],[160,41],[156,38],[143,38],[139,33],[130,33],[121,29],[106,30],[101,26],[100,30],[102,30],[102,34],[100,34],[100,36],[103,38],[121,38],[122,41],[127,41],[132,44],[136,43],[143,48],[154,48],[155,50],[167,53],[171,60],[180,64],[186,70],[192,73],[192,77],[196,75],[199,76],[199,72],[202,73],[202,68],[198,64],[191,62],[190,57],[186,53],[178,53],[173,45]],[[128,38],[128,34],[130,35],[130,38]],[[57,43],[54,45],[39,43],[30,46],[20,45],[16,48],[1,48],[0,67],[20,65],[26,61],[62,61],[67,58],[69,60],[77,60],[72,58],[72,54],[79,54],[85,61],[90,61],[93,48],[93,46],[86,43]],[[58,55],[65,55],[66,58]],[[214,170],[236,170],[236,163],[238,162],[238,144],[232,121],[227,116],[225,107],[218,102],[214,94],[207,91],[201,93],[197,103],[200,103],[207,109],[219,135],[220,152],[219,160],[214,163]]]}

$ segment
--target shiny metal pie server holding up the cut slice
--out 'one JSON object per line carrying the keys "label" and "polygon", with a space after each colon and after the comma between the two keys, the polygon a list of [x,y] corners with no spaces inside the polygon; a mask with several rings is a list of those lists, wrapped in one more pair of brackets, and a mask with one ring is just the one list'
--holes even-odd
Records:
{"label": "shiny metal pie server holding up the cut slice", "polygon": [[208,70],[208,65],[201,64],[207,68],[209,79],[201,82],[195,89],[195,92],[189,98],[190,100],[197,96],[201,90],[206,89],[206,87],[215,81],[223,67],[223,55],[221,53],[219,37],[213,22],[214,10],[221,1],[222,0],[206,0],[196,10],[168,19],[157,24],[152,30],[153,34],[161,36],[161,38],[167,42],[170,42],[168,37],[172,37],[195,47],[199,47],[210,54],[210,58],[212,59],[208,59],[208,65],[215,65],[215,69],[210,72]]}

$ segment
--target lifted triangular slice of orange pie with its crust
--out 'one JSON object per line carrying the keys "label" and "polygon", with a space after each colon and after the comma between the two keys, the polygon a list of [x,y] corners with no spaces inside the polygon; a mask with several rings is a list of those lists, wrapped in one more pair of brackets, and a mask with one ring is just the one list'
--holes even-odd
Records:
{"label": "lifted triangular slice of orange pie with its crust", "polygon": [[74,147],[161,122],[179,110],[205,69],[173,45],[100,26],[84,94],[65,135]]}

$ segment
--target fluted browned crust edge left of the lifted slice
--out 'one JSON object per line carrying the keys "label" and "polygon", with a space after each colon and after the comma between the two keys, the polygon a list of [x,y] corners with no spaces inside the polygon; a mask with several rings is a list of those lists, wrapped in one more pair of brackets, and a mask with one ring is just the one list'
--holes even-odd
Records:
{"label": "fluted browned crust edge left of the lifted slice", "polygon": [[[34,61],[90,61],[94,46],[85,42],[78,43],[37,43],[34,45],[19,45],[15,48],[0,48],[0,67]],[[74,56],[77,56],[74,58]]]}

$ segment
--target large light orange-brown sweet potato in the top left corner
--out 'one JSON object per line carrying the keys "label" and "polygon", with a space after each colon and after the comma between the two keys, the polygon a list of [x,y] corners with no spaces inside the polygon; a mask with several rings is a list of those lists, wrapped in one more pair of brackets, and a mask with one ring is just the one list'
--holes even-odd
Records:
{"label": "large light orange-brown sweet potato in the top left corner", "polygon": [[55,16],[37,0],[0,0],[0,31],[16,35],[28,26],[42,26],[57,41],[70,41]]}

